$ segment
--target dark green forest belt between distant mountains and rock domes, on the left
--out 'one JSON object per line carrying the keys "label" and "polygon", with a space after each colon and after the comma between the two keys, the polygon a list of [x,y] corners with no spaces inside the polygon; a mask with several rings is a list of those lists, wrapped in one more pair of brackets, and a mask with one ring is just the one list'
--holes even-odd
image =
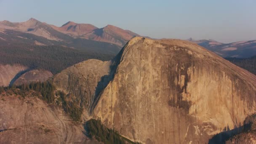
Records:
{"label": "dark green forest belt between distant mountains and rock domes, on the left", "polygon": [[0,45],[0,64],[22,64],[31,69],[49,70],[53,74],[87,59],[107,61],[114,56],[56,45]]}

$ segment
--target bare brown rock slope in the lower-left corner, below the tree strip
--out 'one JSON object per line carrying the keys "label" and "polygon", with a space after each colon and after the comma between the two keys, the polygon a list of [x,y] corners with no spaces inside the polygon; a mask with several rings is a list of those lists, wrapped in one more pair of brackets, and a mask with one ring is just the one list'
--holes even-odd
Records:
{"label": "bare brown rock slope in the lower-left corner, below the tree strip", "polygon": [[[3,144],[84,144],[89,140],[61,108],[35,97],[1,96],[0,141]],[[95,141],[91,141],[95,142]]]}

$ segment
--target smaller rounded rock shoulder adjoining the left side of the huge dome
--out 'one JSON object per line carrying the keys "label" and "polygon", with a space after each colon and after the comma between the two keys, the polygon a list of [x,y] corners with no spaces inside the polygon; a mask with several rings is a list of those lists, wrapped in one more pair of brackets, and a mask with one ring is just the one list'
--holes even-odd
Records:
{"label": "smaller rounded rock shoulder adjoining the left side of the huge dome", "polygon": [[75,95],[86,109],[93,104],[96,96],[109,82],[111,61],[90,59],[69,67],[54,76],[57,90]]}

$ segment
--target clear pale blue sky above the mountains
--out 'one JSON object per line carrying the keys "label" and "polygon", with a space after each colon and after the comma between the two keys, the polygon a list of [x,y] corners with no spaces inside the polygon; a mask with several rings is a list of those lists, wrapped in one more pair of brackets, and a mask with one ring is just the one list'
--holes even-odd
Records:
{"label": "clear pale blue sky above the mountains", "polygon": [[0,0],[0,21],[112,24],[154,38],[256,40],[256,0]]}

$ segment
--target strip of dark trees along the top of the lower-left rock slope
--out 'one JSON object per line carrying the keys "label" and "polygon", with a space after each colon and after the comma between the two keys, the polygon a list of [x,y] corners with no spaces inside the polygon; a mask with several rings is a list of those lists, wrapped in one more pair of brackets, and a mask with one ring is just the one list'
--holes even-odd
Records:
{"label": "strip of dark trees along the top of the lower-left rock slope", "polygon": [[[61,91],[57,91],[56,88],[50,81],[37,82],[22,85],[12,85],[10,87],[0,87],[0,95],[18,95],[22,96],[38,96],[43,99],[48,104],[61,105],[64,111],[72,118],[74,121],[80,121],[83,112],[83,107],[76,100],[67,100],[67,95]],[[5,100],[2,98],[2,100]]]}

